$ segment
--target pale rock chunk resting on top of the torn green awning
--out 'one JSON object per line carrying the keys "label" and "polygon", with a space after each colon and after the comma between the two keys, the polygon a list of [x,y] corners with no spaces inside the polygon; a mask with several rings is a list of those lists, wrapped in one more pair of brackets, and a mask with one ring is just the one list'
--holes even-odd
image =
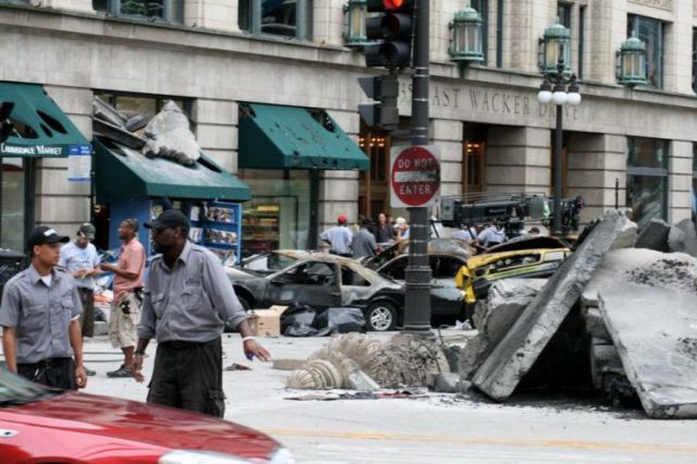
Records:
{"label": "pale rock chunk resting on top of the torn green awning", "polygon": [[148,157],[169,158],[184,166],[194,166],[200,158],[200,147],[189,130],[188,119],[169,100],[145,127]]}

